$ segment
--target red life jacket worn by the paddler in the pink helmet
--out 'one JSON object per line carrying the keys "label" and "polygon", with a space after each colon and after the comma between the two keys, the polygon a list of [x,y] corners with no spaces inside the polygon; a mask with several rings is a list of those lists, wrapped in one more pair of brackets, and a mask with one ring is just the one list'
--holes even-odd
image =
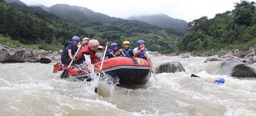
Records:
{"label": "red life jacket worn by the paddler in the pink helmet", "polygon": [[92,62],[96,62],[96,56],[95,56],[95,52],[91,51],[89,48],[89,45],[86,45],[84,48],[82,48],[77,54],[76,54],[76,60],[78,61],[83,61],[82,57],[83,57],[83,53],[84,52],[88,52],[90,53],[91,57],[91,63]]}

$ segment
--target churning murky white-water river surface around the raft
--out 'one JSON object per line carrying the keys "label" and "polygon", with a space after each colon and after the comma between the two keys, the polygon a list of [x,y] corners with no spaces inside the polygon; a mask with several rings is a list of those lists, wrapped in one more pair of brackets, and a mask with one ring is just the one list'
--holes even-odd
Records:
{"label": "churning murky white-water river surface around the raft", "polygon": [[[100,82],[99,96],[96,82],[61,79],[54,63],[0,63],[0,116],[256,116],[256,78],[223,75],[221,62],[202,63],[207,57],[151,59],[154,68],[179,61],[185,72],[152,75],[145,85]],[[220,77],[224,84],[210,81]]]}

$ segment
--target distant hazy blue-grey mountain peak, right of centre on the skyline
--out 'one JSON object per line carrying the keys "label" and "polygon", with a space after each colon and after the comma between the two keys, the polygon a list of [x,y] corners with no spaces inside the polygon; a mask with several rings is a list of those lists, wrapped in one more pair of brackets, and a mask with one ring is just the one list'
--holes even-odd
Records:
{"label": "distant hazy blue-grey mountain peak, right of centre on the skyline", "polygon": [[185,20],[174,19],[166,14],[131,16],[127,20],[140,20],[162,28],[174,28],[182,33],[187,33],[188,23]]}

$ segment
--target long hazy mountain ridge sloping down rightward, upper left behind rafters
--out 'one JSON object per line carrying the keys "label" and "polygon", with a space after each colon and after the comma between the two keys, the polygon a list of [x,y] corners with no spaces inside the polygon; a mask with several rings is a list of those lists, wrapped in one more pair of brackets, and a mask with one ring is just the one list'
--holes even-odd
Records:
{"label": "long hazy mountain ridge sloping down rightward, upper left behind rafters", "polygon": [[80,6],[70,6],[68,4],[56,4],[47,8],[47,11],[58,15],[65,21],[80,25],[81,27],[90,27],[93,25],[114,25],[124,29],[137,27],[140,30],[161,29],[156,25],[151,25],[139,20],[124,20],[116,17],[109,17],[106,14],[94,12],[88,8]]}

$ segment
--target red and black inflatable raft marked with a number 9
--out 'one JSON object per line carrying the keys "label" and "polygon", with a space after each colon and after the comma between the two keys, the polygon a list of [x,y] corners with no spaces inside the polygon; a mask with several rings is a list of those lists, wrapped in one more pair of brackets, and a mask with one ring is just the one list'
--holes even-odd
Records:
{"label": "red and black inflatable raft marked with a number 9", "polygon": [[[101,62],[98,61],[93,64],[99,68]],[[65,70],[67,67],[68,65],[57,63],[54,65],[53,73]],[[105,59],[102,70],[114,79],[119,79],[119,84],[122,85],[143,85],[148,82],[151,76],[148,62],[145,59],[137,57],[113,57],[111,59]],[[88,73],[90,73],[88,68],[76,65],[71,65],[68,72],[70,75],[82,80],[88,79]]]}

